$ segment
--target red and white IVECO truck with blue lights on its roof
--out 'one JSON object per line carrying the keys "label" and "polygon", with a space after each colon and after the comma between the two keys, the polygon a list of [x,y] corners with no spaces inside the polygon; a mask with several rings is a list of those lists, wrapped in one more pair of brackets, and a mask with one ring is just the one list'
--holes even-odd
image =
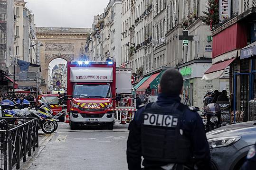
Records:
{"label": "red and white IVECO truck with blue lights on its roof", "polygon": [[[131,81],[130,77],[128,81]],[[111,109],[115,107],[116,96],[115,63],[68,62],[67,80],[67,112],[71,129],[77,125],[103,124],[113,129],[114,110]]]}

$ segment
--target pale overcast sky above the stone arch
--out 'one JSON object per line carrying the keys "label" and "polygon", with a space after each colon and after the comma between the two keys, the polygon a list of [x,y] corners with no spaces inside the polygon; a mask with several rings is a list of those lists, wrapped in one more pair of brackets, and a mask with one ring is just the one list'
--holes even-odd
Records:
{"label": "pale overcast sky above the stone arch", "polygon": [[109,0],[25,0],[35,14],[36,26],[91,27],[93,16],[102,14]]}

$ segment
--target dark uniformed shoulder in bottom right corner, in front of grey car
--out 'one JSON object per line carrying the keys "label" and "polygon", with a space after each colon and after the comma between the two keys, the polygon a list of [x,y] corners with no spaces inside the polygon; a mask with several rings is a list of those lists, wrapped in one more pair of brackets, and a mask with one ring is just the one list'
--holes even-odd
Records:
{"label": "dark uniformed shoulder in bottom right corner, in front of grey car", "polygon": [[256,144],[253,145],[247,153],[247,161],[242,166],[241,170],[255,170],[256,169]]}

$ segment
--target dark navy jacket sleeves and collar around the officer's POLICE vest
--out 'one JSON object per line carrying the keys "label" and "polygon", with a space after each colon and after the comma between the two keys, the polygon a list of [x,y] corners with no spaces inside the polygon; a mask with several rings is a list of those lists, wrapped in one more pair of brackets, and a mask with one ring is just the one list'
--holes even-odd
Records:
{"label": "dark navy jacket sleeves and collar around the officer's POLICE vest", "polygon": [[[174,102],[180,102],[180,97],[166,96],[159,94],[157,104],[159,106],[169,106]],[[129,170],[141,170],[142,157],[142,142],[141,142],[141,127],[142,127],[142,113],[145,107],[140,108],[134,116],[134,119],[129,125],[129,137],[127,140],[127,163]],[[205,135],[202,119],[195,111],[184,111],[183,123],[181,128],[183,133],[188,134],[191,141],[191,155],[193,158],[188,164],[196,164],[198,170],[209,170],[210,151],[209,144]],[[154,153],[152,153],[154,154]],[[170,162],[174,163],[174,162]],[[145,168],[160,167],[166,165],[166,162],[150,161],[144,159],[142,165]]]}

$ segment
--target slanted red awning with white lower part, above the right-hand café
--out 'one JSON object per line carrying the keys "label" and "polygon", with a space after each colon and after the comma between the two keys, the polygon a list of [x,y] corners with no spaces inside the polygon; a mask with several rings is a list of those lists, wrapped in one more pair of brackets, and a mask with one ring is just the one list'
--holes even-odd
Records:
{"label": "slanted red awning with white lower part, above the right-hand caf\u00e9", "polygon": [[225,69],[234,61],[235,59],[228,59],[223,62],[213,64],[202,77],[202,80],[211,80],[216,78],[221,78],[224,76]]}

